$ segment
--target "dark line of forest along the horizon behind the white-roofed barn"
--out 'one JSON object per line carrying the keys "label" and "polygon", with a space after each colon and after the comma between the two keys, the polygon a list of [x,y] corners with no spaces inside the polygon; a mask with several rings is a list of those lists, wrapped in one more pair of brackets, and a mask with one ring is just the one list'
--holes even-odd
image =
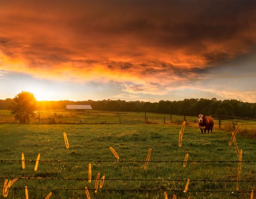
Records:
{"label": "dark line of forest along the horizon behind the white-roofed barn", "polygon": [[[13,103],[7,98],[0,100],[0,110],[6,110]],[[230,115],[242,118],[256,118],[256,103],[242,102],[238,100],[212,99],[184,99],[183,101],[144,102],[124,100],[102,101],[38,101],[38,110],[64,109],[67,104],[90,104],[93,110],[125,111],[125,112],[157,112],[174,115]]]}

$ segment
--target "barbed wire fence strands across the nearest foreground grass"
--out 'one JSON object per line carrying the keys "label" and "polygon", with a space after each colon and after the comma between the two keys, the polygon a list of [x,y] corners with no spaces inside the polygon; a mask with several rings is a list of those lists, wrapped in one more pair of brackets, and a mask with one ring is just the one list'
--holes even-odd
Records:
{"label": "barbed wire fence strands across the nearest foreground grass", "polygon": [[[35,159],[28,159],[28,160],[15,160],[15,159],[0,159],[0,163],[4,162],[36,162],[38,160]],[[119,163],[145,163],[145,160],[55,160],[55,159],[41,159],[39,162],[95,162],[95,163],[103,163],[103,162],[119,162]],[[184,161],[179,161],[179,160],[151,160],[148,161],[151,163],[183,163]],[[200,160],[190,160],[187,161],[190,163],[218,163],[218,164],[225,164],[225,163],[238,163],[238,162],[243,162],[243,163],[255,163],[256,160],[218,160],[218,161],[200,161]],[[0,176],[0,179],[21,179],[21,180],[50,180],[50,181],[55,181],[55,180],[64,180],[64,181],[88,181],[88,178],[70,178],[70,177],[33,177],[33,176]],[[91,178],[91,180],[96,180],[96,178]],[[186,182],[186,179],[143,179],[143,178],[129,178],[129,179],[116,179],[116,178],[105,178],[105,181],[130,181],[130,182],[136,182],[136,181],[145,181],[145,182]],[[226,180],[226,179],[190,179],[190,182],[225,182],[225,183],[236,183],[237,180]],[[239,182],[247,182],[247,183],[256,183],[256,179],[250,179],[250,180],[239,180]],[[254,186],[254,185],[252,185]],[[18,190],[24,190],[24,187],[10,187],[10,189],[13,190],[12,197],[20,197],[18,196]],[[65,188],[37,188],[37,187],[28,187],[29,190],[32,191],[38,191],[39,196],[43,198],[43,192],[60,192],[64,191],[65,192],[65,198],[70,198],[69,192],[70,191],[84,191],[84,187],[79,187],[79,188],[74,188],[74,187],[65,187]],[[88,189],[89,191],[93,191],[94,198],[96,198],[95,189]],[[142,193],[142,194],[147,194],[147,197],[150,199],[151,194],[154,192],[166,192],[166,193],[180,193],[184,192],[181,189],[100,189],[101,192],[109,192],[109,193],[119,193],[120,197],[123,198],[125,196],[125,193],[127,192],[132,192],[132,193]],[[252,191],[251,190],[189,190],[188,192],[191,193],[230,193],[230,194],[250,194]],[[84,198],[85,198],[84,194]],[[1,196],[0,196],[1,198]]]}

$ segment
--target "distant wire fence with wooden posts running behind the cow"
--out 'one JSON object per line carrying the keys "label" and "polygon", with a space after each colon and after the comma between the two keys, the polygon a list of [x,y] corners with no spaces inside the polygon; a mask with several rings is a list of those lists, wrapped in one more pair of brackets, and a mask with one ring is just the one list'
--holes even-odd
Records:
{"label": "distant wire fence with wooden posts running behind the cow", "polygon": [[[241,129],[255,130],[256,131],[256,119],[250,118],[241,118],[228,115],[211,115],[214,119],[215,129],[219,127],[228,127],[229,129],[235,129],[237,124],[241,124]],[[32,120],[32,123],[48,123],[48,124],[181,124],[183,121],[186,121],[190,125],[198,125],[198,118],[186,116],[186,115],[172,115],[165,117],[148,117],[145,112],[145,117],[113,117],[113,118],[55,118],[54,115],[51,117],[40,117]],[[1,120],[3,123],[12,123],[13,120]]]}

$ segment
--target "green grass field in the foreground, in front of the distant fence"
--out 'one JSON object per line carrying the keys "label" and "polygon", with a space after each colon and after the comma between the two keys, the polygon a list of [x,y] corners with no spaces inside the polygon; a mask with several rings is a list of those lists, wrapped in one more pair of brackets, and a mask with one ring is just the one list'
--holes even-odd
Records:
{"label": "green grass field in the foreground, in front of the distant fence", "polygon": [[[45,198],[50,191],[50,198],[84,198],[84,187],[94,189],[94,179],[100,172],[100,177],[105,175],[105,182],[98,193],[90,190],[92,198],[161,199],[164,190],[169,198],[173,194],[178,198],[250,198],[249,192],[255,190],[256,185],[256,162],[242,163],[241,180],[254,181],[239,183],[239,190],[248,193],[236,192],[238,162],[197,162],[237,161],[234,145],[228,146],[230,132],[214,130],[212,134],[201,135],[198,127],[186,126],[182,147],[178,147],[179,130],[180,125],[0,124],[1,160],[20,160],[21,153],[25,154],[26,160],[35,160],[38,153],[41,153],[41,160],[62,160],[41,161],[37,171],[34,171],[35,162],[26,162],[23,170],[20,161],[0,161],[0,191],[2,193],[5,178],[72,178],[18,179],[12,185],[16,189],[10,190],[9,197],[25,198],[24,187],[27,185],[29,198],[33,199]],[[69,149],[65,148],[64,131],[70,143]],[[243,160],[255,161],[256,140],[238,134],[236,141],[243,150]],[[110,146],[120,156],[119,162]],[[149,148],[152,148],[150,161],[181,162],[149,162],[145,170],[142,161],[146,159]],[[186,153],[192,162],[183,167]],[[89,163],[92,164],[91,183],[87,180]],[[187,179],[190,179],[188,192],[183,193]]]}

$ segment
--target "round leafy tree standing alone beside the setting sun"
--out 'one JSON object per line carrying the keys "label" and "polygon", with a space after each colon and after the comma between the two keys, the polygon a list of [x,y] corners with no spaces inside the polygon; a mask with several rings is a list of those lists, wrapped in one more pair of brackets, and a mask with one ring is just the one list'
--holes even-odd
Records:
{"label": "round leafy tree standing alone beside the setting sun", "polygon": [[22,91],[13,98],[14,102],[9,107],[11,114],[20,123],[29,123],[30,117],[35,117],[37,101],[31,92]]}

